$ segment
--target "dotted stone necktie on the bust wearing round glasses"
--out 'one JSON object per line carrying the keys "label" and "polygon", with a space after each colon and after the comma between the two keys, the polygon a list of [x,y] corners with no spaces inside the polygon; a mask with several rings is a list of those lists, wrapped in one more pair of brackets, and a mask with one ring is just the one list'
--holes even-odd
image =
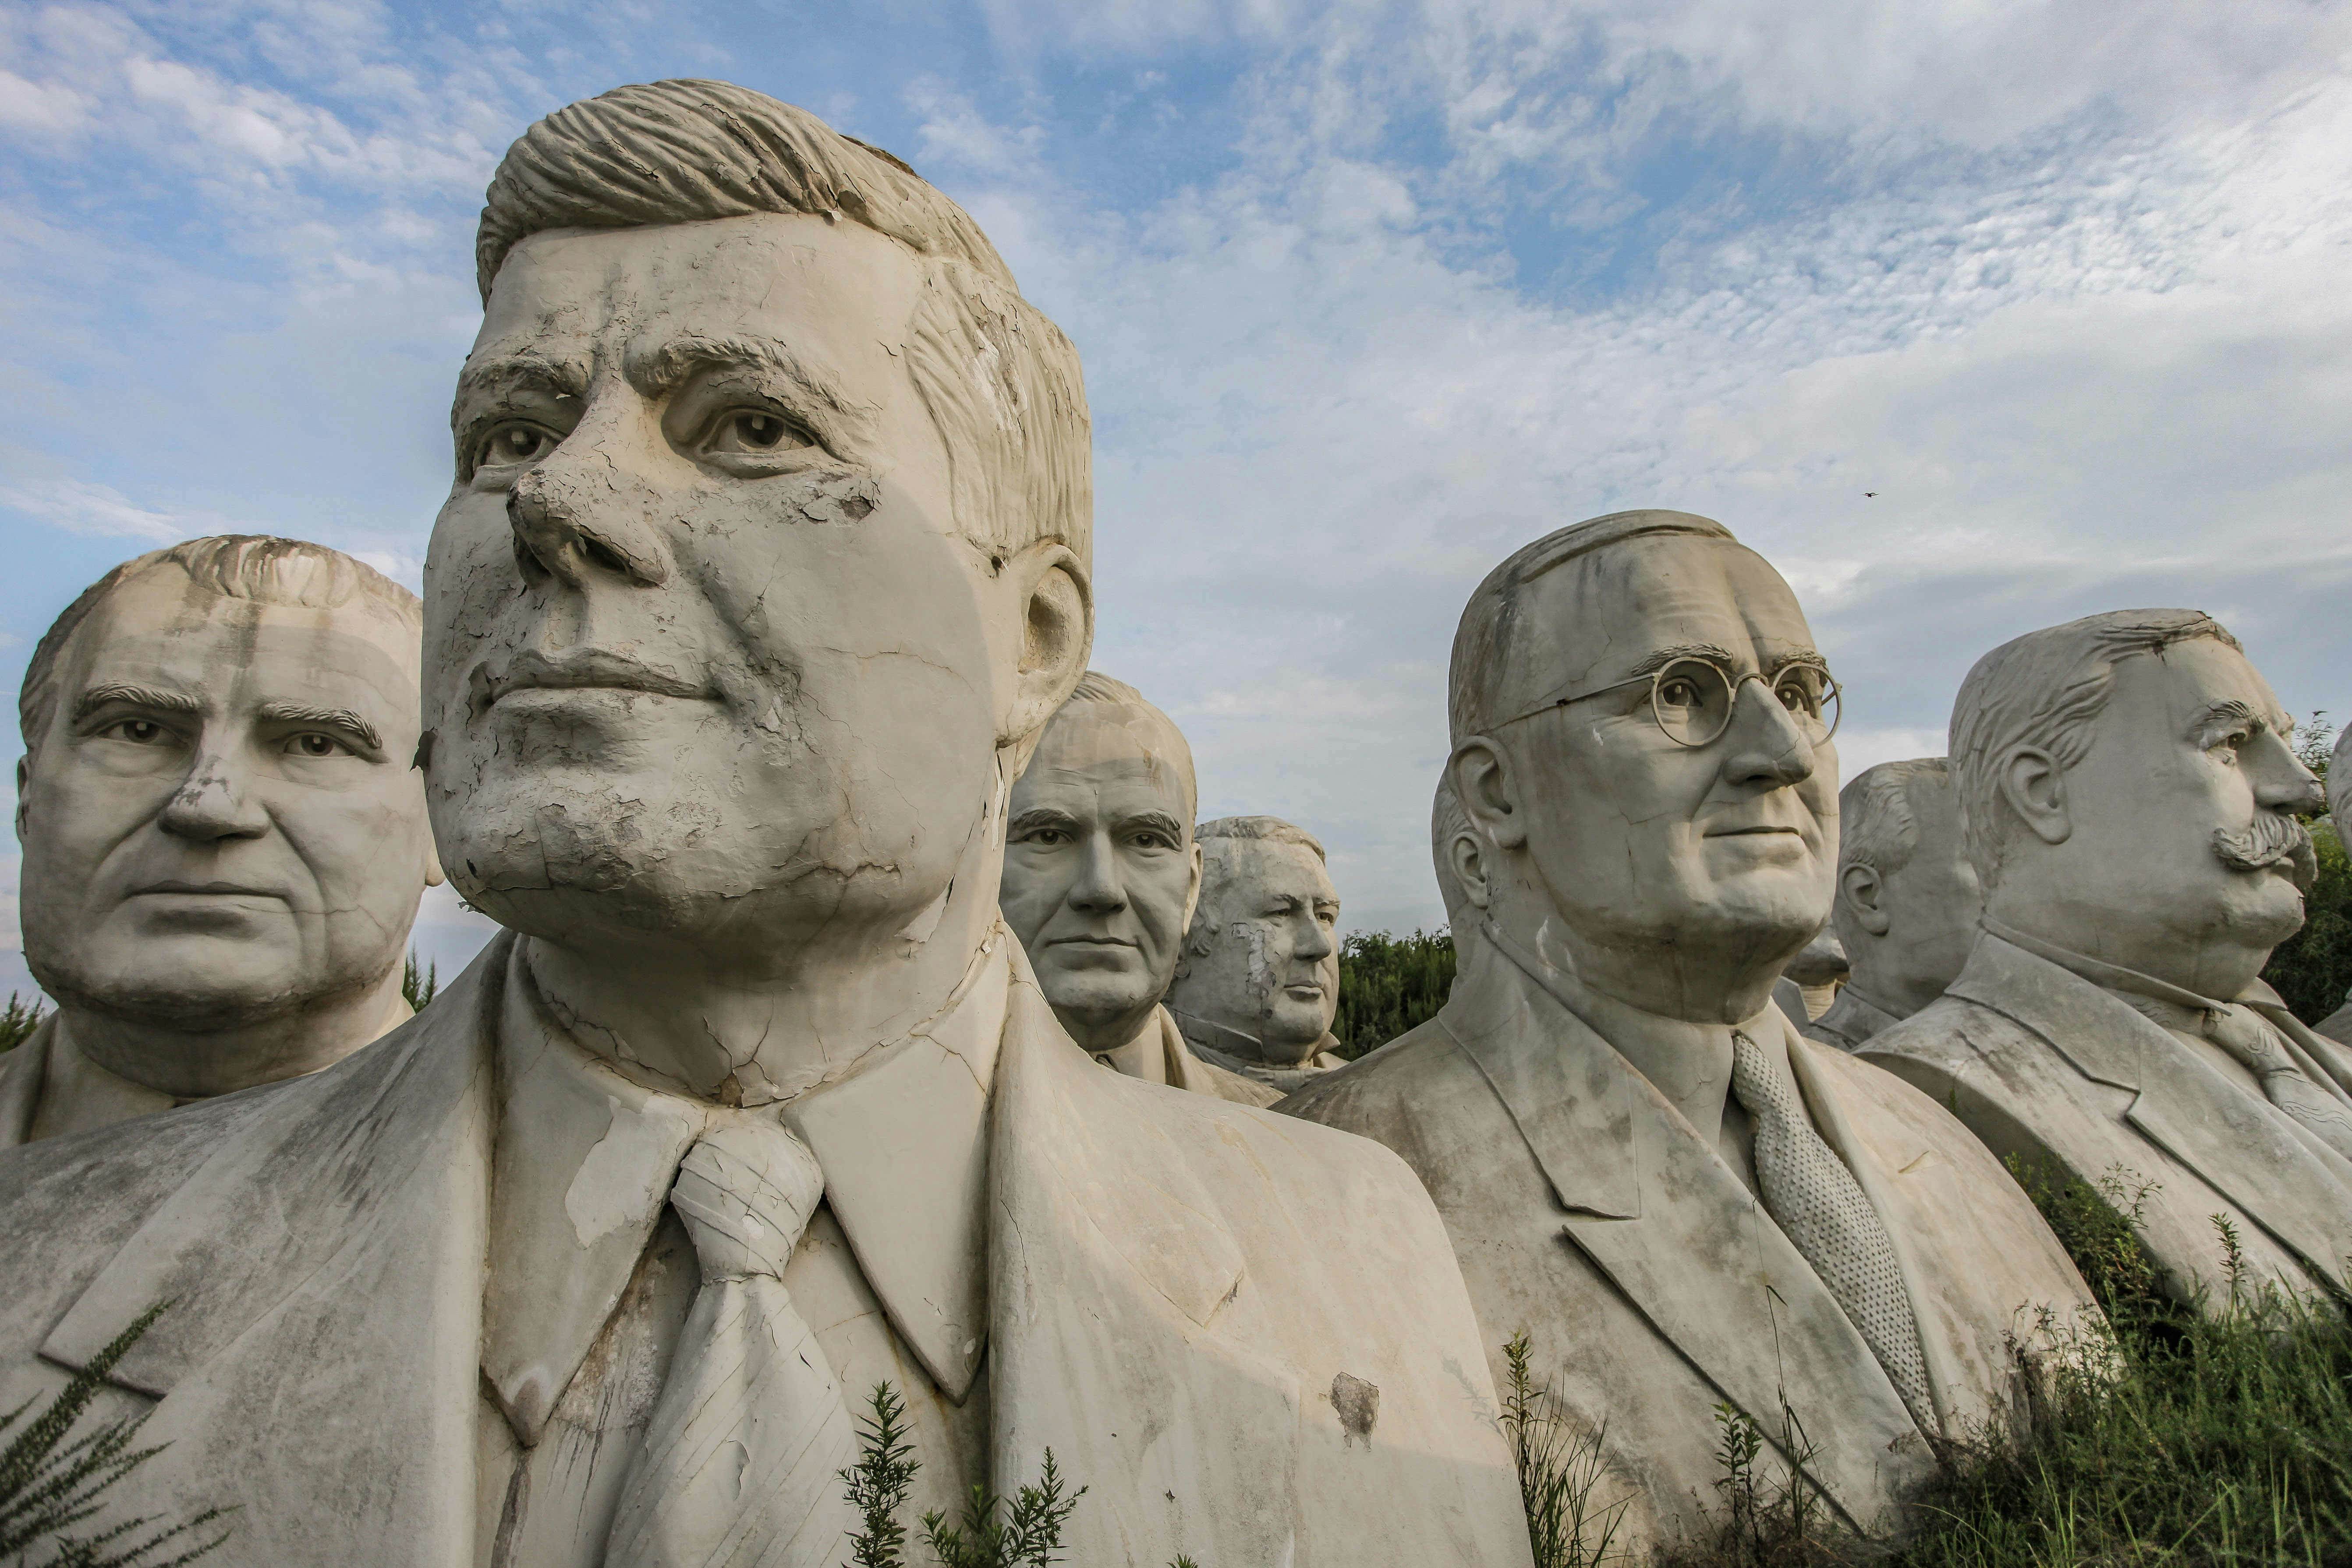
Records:
{"label": "dotted stone necktie on the bust wearing round glasses", "polygon": [[1879,1211],[1863,1197],[1846,1161],[1813,1131],[1788,1067],[1738,1030],[1731,1032],[1731,1093],[1755,1119],[1757,1185],[1766,1213],[1830,1286],[1919,1429],[1938,1432],[1919,1324]]}

